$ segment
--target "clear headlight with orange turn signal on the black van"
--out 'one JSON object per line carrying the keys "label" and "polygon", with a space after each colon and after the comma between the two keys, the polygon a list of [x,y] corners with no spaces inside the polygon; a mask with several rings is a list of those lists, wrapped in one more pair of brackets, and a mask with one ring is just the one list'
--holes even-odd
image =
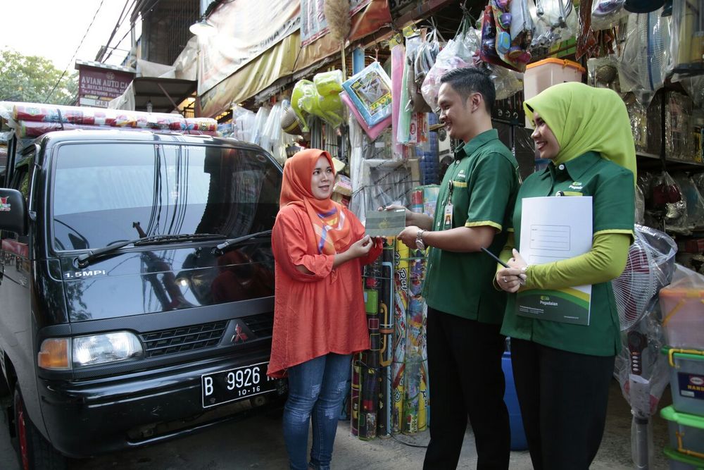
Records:
{"label": "clear headlight with orange turn signal on the black van", "polygon": [[49,338],[39,349],[38,364],[43,369],[67,370],[144,357],[137,335],[129,331]]}

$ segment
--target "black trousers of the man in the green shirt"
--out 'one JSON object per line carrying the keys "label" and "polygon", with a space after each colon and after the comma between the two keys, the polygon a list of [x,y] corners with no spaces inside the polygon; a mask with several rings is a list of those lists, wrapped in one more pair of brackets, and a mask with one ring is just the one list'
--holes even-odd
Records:
{"label": "black trousers of the man in the green shirt", "polygon": [[470,418],[477,469],[508,469],[510,427],[503,402],[501,326],[428,308],[430,443],[425,470],[455,469]]}

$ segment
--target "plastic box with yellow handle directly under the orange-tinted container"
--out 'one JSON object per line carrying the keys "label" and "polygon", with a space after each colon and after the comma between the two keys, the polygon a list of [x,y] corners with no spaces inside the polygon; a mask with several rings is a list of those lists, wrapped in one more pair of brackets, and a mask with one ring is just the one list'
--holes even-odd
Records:
{"label": "plastic box with yellow handle directly under the orange-tinted container", "polygon": [[663,348],[670,361],[672,407],[704,416],[704,351]]}

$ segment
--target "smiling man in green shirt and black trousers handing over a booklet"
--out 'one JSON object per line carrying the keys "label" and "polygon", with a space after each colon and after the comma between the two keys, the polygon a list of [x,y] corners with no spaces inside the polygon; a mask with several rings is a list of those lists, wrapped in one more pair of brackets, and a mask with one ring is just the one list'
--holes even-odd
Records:
{"label": "smiling man in green shirt and black trousers handing over a booklet", "polygon": [[476,68],[441,78],[440,120],[455,150],[440,187],[434,219],[406,212],[398,237],[430,247],[423,295],[428,305],[427,350],[432,404],[424,469],[455,469],[467,427],[478,469],[508,469],[510,427],[503,402],[501,320],[505,295],[492,285],[520,185],[518,164],[491,126],[496,91]]}

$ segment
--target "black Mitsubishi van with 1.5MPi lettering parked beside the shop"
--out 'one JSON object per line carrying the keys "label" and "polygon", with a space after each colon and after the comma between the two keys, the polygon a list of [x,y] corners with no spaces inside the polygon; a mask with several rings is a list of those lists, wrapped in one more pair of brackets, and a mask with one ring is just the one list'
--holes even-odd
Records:
{"label": "black Mitsubishi van with 1.5MPi lettering parked beside the shop", "polygon": [[23,469],[281,406],[269,154],[121,130],[18,147],[0,189],[0,389]]}

